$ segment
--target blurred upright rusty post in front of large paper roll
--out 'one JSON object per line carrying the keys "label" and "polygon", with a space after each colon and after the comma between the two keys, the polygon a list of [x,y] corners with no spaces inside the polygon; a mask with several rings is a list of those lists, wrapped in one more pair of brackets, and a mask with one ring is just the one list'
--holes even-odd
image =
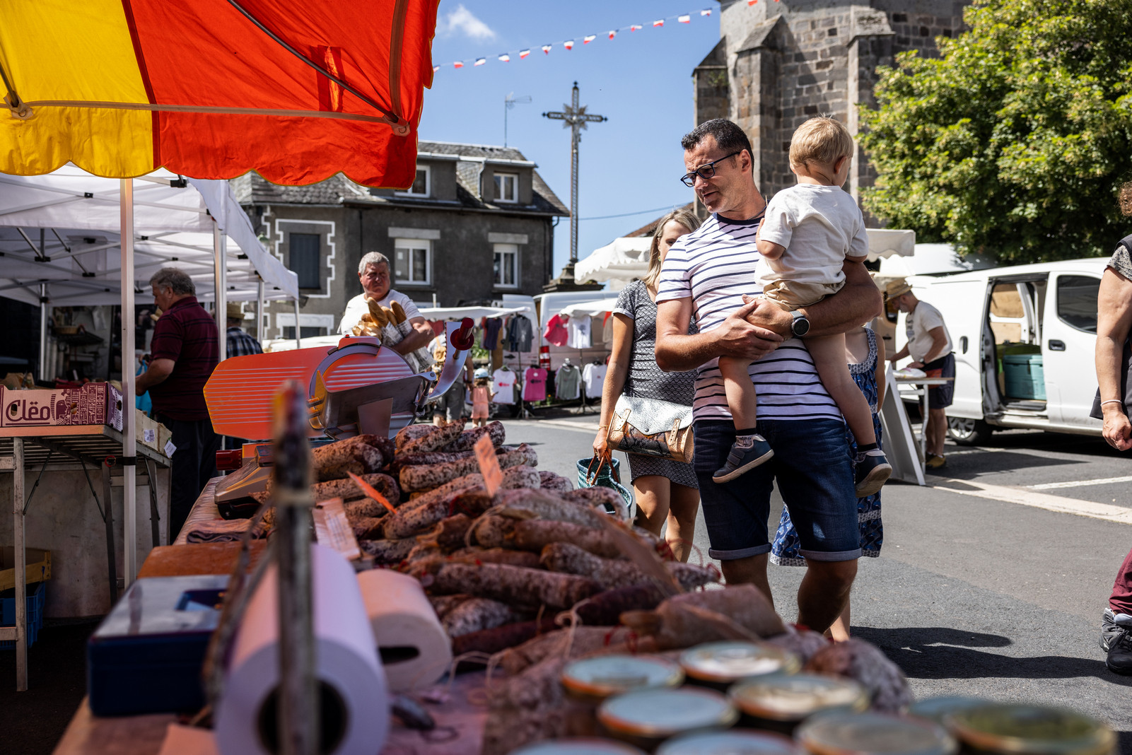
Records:
{"label": "blurred upright rusty post in front of large paper roll", "polygon": [[[295,326],[298,327],[298,325]],[[307,392],[298,381],[283,387],[276,410],[275,546],[278,552],[280,712],[284,755],[318,750],[315,621],[310,595],[310,445]]]}

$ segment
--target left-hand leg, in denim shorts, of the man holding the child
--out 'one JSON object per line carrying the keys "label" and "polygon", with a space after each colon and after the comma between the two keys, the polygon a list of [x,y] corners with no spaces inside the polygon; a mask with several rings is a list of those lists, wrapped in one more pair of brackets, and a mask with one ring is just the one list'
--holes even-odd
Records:
{"label": "left-hand leg, in denim shorts, of the man holding the child", "polygon": [[696,453],[692,464],[700,482],[711,542],[707,555],[721,561],[728,584],[754,584],[770,598],[766,554],[771,546],[766,518],[777,460],[753,470],[743,480],[717,484],[712,475],[730,453],[735,426],[729,420],[700,420],[693,428]]}

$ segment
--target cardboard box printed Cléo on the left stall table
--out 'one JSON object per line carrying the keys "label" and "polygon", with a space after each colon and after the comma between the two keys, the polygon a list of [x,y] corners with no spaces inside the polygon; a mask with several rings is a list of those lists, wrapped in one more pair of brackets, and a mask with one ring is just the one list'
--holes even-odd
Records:
{"label": "cardboard box printed Cl\u00e9o on the left stall table", "polygon": [[122,394],[109,383],[9,391],[0,386],[0,427],[109,424],[122,429]]}

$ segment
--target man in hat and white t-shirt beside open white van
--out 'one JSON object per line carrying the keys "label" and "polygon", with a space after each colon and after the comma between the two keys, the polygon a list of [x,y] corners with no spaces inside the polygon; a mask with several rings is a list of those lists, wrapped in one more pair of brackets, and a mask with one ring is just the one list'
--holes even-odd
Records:
{"label": "man in hat and white t-shirt beside open white van", "polygon": [[889,358],[892,366],[895,367],[899,360],[911,354],[912,361],[908,367],[919,368],[928,377],[952,378],[950,383],[927,389],[927,423],[924,428],[927,458],[924,463],[929,469],[940,469],[946,463],[943,457],[943,439],[947,434],[946,410],[955,394],[955,355],[951,353],[951,334],[947,333],[940,310],[917,299],[904,278],[890,282],[884,289],[884,295],[906,314],[908,343]]}

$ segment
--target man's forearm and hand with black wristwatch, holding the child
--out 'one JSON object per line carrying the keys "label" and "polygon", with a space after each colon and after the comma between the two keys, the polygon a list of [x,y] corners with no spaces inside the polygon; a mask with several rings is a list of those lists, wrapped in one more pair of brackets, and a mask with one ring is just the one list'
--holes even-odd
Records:
{"label": "man's forearm and hand with black wristwatch, holding the child", "polygon": [[[873,283],[865,266],[847,259],[841,269],[846,274],[846,284],[840,291],[799,310],[809,320],[807,337],[848,333],[881,314],[883,306],[881,291]],[[790,325],[794,319],[790,312],[783,311],[771,301],[756,299],[754,303],[755,309],[747,317],[748,323],[773,331],[782,337],[790,336]],[[658,320],[658,346],[659,325]]]}

